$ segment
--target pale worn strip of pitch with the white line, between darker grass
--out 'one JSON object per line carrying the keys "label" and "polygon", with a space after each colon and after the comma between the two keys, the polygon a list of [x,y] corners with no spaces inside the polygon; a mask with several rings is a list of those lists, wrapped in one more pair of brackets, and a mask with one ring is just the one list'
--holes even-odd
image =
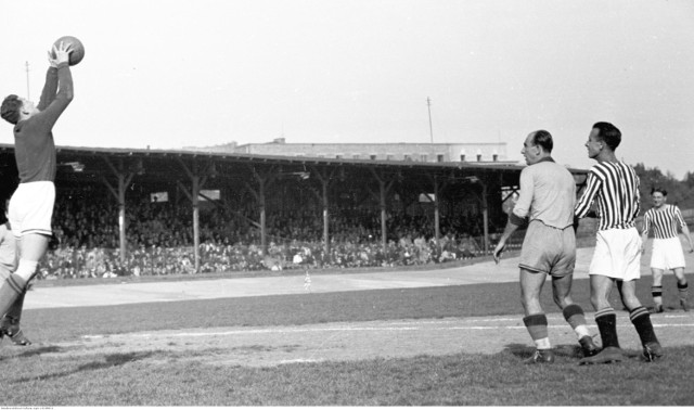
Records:
{"label": "pale worn strip of pitch with the white line, between darker grass", "polygon": [[[672,311],[652,318],[666,348],[691,343],[694,312]],[[578,356],[574,351],[577,344],[573,331],[558,313],[549,315],[548,319],[550,338],[560,356],[575,360]],[[618,312],[617,323],[622,347],[637,353],[640,343],[626,312]],[[595,326],[590,329],[597,333]],[[47,357],[123,355],[153,363],[191,360],[209,366],[272,367],[419,355],[494,354],[504,349],[526,355],[531,346],[520,317],[504,316],[87,335],[79,342],[30,348],[43,350]]]}

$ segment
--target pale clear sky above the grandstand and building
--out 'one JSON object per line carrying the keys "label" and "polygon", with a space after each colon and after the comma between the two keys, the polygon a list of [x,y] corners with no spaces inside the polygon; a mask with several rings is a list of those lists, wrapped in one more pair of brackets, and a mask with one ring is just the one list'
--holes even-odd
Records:
{"label": "pale clear sky above the grandstand and building", "polygon": [[85,44],[57,145],[505,142],[522,161],[547,129],[558,163],[588,168],[604,120],[627,163],[694,171],[691,0],[0,4],[2,98],[38,100],[52,42]]}

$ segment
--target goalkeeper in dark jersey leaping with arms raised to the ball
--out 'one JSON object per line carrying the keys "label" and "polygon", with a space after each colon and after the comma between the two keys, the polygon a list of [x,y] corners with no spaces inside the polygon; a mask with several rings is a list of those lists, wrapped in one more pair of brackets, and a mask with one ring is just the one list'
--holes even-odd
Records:
{"label": "goalkeeper in dark jersey leaping with arms raised to the ball", "polygon": [[20,171],[20,185],[9,209],[20,262],[0,285],[0,317],[24,294],[52,234],[56,170],[52,129],[73,100],[69,51],[62,42],[49,51],[50,67],[38,106],[14,94],[7,97],[0,106],[0,116],[14,125],[14,156]]}

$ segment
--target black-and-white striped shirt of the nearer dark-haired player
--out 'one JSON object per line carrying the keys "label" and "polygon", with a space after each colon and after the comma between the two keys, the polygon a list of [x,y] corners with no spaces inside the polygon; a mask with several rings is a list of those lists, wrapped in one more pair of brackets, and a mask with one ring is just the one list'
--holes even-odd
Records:
{"label": "black-and-white striped shirt of the nearer dark-haired player", "polygon": [[600,215],[599,230],[634,227],[639,215],[639,176],[624,162],[599,163],[588,172],[586,191],[576,204],[576,216],[583,218],[594,201]]}

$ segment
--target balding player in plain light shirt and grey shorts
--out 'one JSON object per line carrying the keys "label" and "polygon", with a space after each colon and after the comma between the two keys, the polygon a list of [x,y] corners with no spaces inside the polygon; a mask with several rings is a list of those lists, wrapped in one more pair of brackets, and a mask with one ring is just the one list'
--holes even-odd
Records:
{"label": "balding player in plain light shirt and grey shorts", "polygon": [[498,262],[506,240],[529,220],[520,252],[520,297],[525,323],[536,350],[526,364],[552,363],[554,354],[549,338],[548,321],[540,293],[552,277],[554,302],[564,319],[576,332],[584,356],[597,354],[597,347],[586,325],[583,309],[570,296],[576,265],[574,204],[576,182],[566,167],[552,159],[552,136],[544,130],[526,138],[522,154],[528,167],[520,171],[520,194],[494,249]]}

